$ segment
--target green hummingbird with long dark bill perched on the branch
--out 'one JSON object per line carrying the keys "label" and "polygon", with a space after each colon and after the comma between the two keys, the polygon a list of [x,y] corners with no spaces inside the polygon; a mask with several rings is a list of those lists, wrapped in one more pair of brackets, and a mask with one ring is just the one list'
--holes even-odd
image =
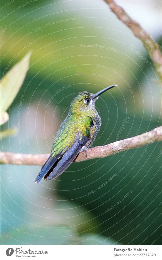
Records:
{"label": "green hummingbird with long dark bill perched on the branch", "polygon": [[79,153],[87,150],[95,140],[101,126],[101,118],[95,109],[99,96],[116,85],[102,89],[96,94],[82,92],[71,102],[69,112],[53,141],[49,158],[41,168],[35,183],[43,178],[48,181],[63,173]]}

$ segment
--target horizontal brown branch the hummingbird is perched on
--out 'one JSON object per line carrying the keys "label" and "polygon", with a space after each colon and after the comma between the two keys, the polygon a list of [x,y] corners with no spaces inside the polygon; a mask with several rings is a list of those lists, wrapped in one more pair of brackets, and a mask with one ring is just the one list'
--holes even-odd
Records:
{"label": "horizontal brown branch the hummingbird is perched on", "polygon": [[[162,126],[157,127],[147,133],[127,138],[121,141],[111,143],[109,145],[96,146],[88,149],[87,157],[85,152],[80,153],[75,162],[101,158],[119,153],[125,150],[139,148],[143,145],[162,141]],[[49,154],[20,154],[20,153],[0,153],[1,164],[26,164],[26,165],[43,165],[48,159]]]}

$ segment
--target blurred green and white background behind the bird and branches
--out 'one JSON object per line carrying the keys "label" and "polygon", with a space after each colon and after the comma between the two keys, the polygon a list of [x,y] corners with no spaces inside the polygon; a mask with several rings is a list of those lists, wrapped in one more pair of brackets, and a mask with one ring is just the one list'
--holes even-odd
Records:
{"label": "blurred green and white background behind the bird and branches", "polygon": [[[160,1],[120,4],[160,44]],[[94,146],[115,141],[126,117],[119,140],[161,125],[156,70],[104,1],[2,0],[1,6],[1,76],[32,50],[27,77],[2,127],[18,126],[24,95],[20,129],[1,141],[1,150],[49,153],[77,93],[112,84],[118,87],[96,102],[102,126]],[[1,165],[1,243],[160,244],[160,150],[154,143],[73,163],[40,185],[34,184],[40,166]]]}

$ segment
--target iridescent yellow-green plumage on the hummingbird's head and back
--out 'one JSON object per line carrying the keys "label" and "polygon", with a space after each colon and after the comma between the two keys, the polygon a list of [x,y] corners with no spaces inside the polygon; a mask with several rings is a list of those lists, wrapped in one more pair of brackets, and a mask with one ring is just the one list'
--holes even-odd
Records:
{"label": "iridescent yellow-green plumage on the hummingbird's head and back", "polygon": [[87,111],[87,104],[81,104],[81,101],[86,98],[90,98],[88,93],[81,93],[71,103],[67,118],[59,127],[54,139],[51,151],[52,156],[56,156],[60,152],[64,153],[69,149],[74,144],[78,132],[81,133],[81,136],[89,136],[92,133],[91,138],[93,139],[92,120],[95,120],[99,115],[97,111],[94,111],[93,107]]}

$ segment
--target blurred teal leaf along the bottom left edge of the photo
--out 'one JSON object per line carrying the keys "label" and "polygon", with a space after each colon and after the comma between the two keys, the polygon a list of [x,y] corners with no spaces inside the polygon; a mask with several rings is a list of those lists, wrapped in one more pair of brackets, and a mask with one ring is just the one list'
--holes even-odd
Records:
{"label": "blurred teal leaf along the bottom left edge of the photo", "polygon": [[74,228],[65,225],[13,226],[7,233],[2,233],[0,242],[4,245],[69,245],[74,231]]}

